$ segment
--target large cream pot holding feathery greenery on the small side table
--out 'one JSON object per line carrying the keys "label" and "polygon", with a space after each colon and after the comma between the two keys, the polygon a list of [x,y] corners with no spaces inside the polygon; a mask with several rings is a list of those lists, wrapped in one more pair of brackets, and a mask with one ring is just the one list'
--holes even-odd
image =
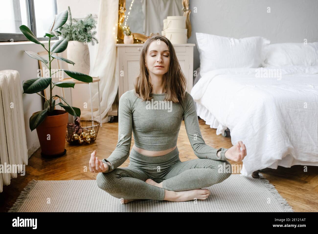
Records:
{"label": "large cream pot holding feathery greenery on the small side table", "polygon": [[69,41],[67,46],[67,59],[75,64],[68,64],[68,69],[74,72],[81,72],[86,75],[90,70],[90,57],[88,45],[79,41]]}

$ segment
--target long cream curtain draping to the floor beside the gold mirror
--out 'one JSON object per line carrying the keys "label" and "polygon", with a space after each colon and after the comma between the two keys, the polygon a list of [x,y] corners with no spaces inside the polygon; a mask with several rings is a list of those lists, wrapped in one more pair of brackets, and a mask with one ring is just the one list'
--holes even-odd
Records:
{"label": "long cream curtain draping to the floor beside the gold mirror", "polygon": [[[114,103],[118,89],[118,72],[116,69],[116,43],[118,24],[119,0],[100,0],[99,14],[97,20],[96,59],[91,69],[91,76],[100,78],[100,110],[102,123],[108,122],[107,112]],[[92,85],[93,95],[93,117],[100,121],[98,110],[98,88],[97,84]],[[87,110],[81,114],[82,119],[91,119],[91,103],[87,103]]]}

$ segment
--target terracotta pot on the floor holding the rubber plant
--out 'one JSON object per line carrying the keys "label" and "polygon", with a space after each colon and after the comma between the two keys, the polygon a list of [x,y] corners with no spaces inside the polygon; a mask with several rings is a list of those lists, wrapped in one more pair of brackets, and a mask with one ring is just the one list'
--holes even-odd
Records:
{"label": "terracotta pot on the floor holding the rubber plant", "polygon": [[36,128],[42,156],[62,156],[66,152],[68,113],[65,110],[54,110],[54,114],[56,115],[45,117],[45,120]]}

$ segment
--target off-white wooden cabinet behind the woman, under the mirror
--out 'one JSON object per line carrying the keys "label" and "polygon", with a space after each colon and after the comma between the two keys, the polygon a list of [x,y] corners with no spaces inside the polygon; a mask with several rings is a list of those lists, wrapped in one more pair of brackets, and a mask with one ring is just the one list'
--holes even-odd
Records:
{"label": "off-white wooden cabinet behind the woman, under the mirror", "polygon": [[[139,74],[139,59],[143,44],[116,44],[118,62],[118,99],[128,90],[134,89],[135,78]],[[187,80],[186,91],[191,92],[193,86],[193,46],[195,44],[174,44],[176,56],[179,60],[181,70]],[[117,115],[118,103],[114,103],[108,112],[109,116]]]}

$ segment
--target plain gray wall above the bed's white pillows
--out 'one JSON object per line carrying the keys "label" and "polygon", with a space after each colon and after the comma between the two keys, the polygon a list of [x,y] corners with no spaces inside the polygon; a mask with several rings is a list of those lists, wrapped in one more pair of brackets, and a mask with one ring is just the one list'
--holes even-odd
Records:
{"label": "plain gray wall above the bed's white pillows", "polygon": [[[196,32],[243,38],[262,36],[274,43],[318,41],[317,0],[190,0],[192,35]],[[267,13],[267,7],[271,12]],[[194,11],[197,10],[197,13]],[[197,44],[193,68],[200,66]]]}

